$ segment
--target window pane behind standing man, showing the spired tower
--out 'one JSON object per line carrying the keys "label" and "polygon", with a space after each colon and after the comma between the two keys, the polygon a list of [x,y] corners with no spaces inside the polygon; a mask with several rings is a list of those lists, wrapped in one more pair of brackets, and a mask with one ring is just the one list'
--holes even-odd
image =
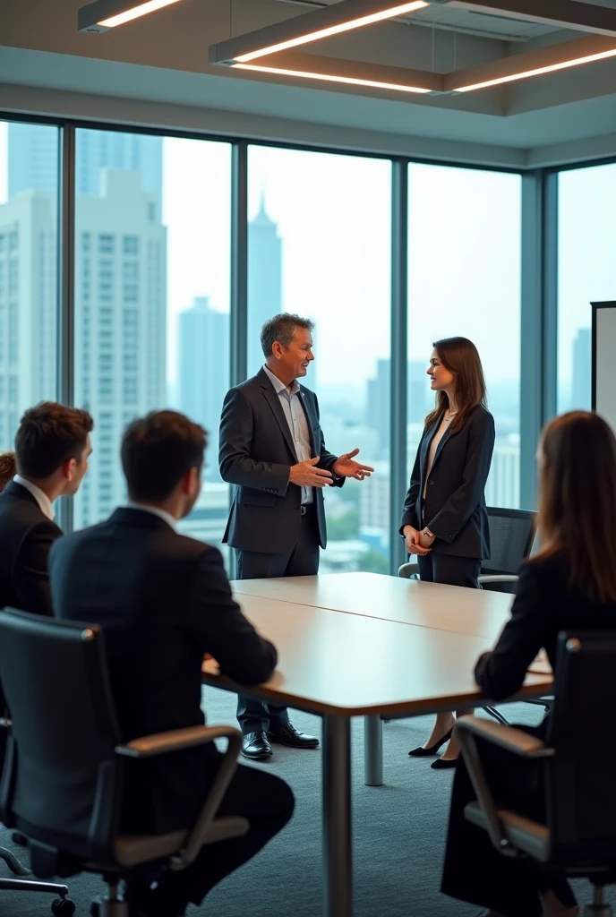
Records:
{"label": "window pane behind standing man, showing the spired tower", "polygon": [[391,163],[251,147],[248,195],[248,374],[265,321],[311,318],[326,447],[376,468],[325,493],[320,569],[388,572]]}

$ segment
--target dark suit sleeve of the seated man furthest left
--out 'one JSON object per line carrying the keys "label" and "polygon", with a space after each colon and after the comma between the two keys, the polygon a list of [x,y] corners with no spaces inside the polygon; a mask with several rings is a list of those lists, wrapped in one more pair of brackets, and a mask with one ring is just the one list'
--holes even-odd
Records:
{"label": "dark suit sleeve of the seated man furthest left", "polygon": [[49,550],[61,535],[61,529],[49,521],[34,525],[24,536],[13,571],[19,607],[23,611],[53,614],[49,588]]}

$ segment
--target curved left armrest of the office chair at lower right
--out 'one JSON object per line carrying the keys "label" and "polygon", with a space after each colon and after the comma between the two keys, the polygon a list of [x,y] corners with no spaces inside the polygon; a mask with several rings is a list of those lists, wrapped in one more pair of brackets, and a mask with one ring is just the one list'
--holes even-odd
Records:
{"label": "curved left armrest of the office chair at lower right", "polygon": [[554,755],[554,749],[546,747],[540,739],[524,733],[522,729],[491,723],[490,720],[480,720],[477,716],[460,717],[457,720],[454,735],[457,735],[460,741],[468,776],[473,784],[479,806],[485,812],[492,844],[505,856],[517,856],[515,847],[502,830],[498,807],[481,763],[476,738],[479,736],[507,751],[527,758]]}

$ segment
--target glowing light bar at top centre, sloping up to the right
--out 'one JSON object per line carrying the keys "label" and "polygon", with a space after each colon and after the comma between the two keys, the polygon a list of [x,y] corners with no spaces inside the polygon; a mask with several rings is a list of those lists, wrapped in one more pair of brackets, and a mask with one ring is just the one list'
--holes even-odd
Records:
{"label": "glowing light bar at top centre, sloping up to the right", "polygon": [[395,3],[392,0],[342,0],[303,16],[284,19],[267,28],[228,39],[210,47],[210,63],[229,67],[247,63],[268,54],[297,48],[310,41],[327,39],[351,29],[371,26],[386,19],[404,16],[429,6],[426,0]]}

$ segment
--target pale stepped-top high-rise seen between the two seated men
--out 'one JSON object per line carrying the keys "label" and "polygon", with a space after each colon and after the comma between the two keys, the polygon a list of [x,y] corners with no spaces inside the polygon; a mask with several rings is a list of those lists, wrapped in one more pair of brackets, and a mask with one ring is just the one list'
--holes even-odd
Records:
{"label": "pale stepped-top high-rise seen between the two seated men", "polygon": [[90,471],[75,525],[126,499],[122,431],[166,402],[167,230],[135,171],[103,170],[75,208],[75,403],[94,416]]}

